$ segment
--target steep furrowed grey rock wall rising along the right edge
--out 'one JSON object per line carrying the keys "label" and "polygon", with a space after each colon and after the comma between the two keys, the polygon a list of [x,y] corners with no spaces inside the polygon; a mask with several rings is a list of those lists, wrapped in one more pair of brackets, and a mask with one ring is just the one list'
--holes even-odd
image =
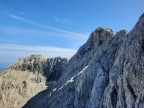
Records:
{"label": "steep furrowed grey rock wall rising along the right edge", "polygon": [[121,45],[101,107],[144,107],[144,14]]}

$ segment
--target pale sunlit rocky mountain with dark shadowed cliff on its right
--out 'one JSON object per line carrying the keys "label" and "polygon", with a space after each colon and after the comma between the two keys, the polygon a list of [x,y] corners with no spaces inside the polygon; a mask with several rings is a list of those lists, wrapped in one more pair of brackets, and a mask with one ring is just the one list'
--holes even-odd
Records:
{"label": "pale sunlit rocky mountain with dark shadowed cliff on its right", "polygon": [[[0,74],[0,108],[20,108],[63,74],[65,58],[32,55]],[[51,82],[52,81],[52,82]]]}

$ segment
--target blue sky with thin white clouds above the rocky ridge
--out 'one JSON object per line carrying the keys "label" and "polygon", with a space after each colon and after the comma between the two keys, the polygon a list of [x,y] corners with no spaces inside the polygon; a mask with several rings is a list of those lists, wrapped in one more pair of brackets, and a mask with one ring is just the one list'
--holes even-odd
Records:
{"label": "blue sky with thin white clouds above the rocky ridge", "polygon": [[130,31],[144,0],[0,0],[0,63],[70,58],[98,27]]}

